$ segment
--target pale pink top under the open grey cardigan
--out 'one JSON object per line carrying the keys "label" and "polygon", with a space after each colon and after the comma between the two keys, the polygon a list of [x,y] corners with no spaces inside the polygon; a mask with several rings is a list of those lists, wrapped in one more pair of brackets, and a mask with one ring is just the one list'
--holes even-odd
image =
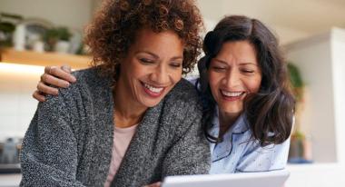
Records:
{"label": "pale pink top under the open grey cardigan", "polygon": [[113,176],[115,176],[120,167],[120,163],[123,161],[124,153],[126,153],[129,143],[131,143],[137,126],[138,124],[127,128],[114,128],[112,162],[110,163],[108,177],[106,178],[104,187],[109,187],[112,183]]}

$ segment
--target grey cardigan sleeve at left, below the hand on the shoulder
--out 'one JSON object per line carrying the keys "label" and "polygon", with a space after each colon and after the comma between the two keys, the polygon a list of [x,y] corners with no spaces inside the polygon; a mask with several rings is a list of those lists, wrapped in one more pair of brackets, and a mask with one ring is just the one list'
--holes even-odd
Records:
{"label": "grey cardigan sleeve at left, below the hand on the shoulder", "polygon": [[39,103],[25,133],[21,186],[84,186],[76,181],[77,145],[64,94]]}

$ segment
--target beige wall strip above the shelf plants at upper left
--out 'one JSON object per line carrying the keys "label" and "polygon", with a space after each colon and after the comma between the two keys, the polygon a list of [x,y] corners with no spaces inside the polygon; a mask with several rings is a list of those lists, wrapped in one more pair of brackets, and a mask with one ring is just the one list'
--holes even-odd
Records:
{"label": "beige wall strip above the shelf plants at upper left", "polygon": [[83,30],[93,10],[94,0],[0,0],[0,12],[43,18],[77,30]]}

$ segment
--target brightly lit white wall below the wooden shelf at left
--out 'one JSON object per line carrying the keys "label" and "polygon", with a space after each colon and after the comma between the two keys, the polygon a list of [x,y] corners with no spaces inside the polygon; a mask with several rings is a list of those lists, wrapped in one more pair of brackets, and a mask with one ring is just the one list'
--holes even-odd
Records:
{"label": "brightly lit white wall below the wooden shelf at left", "polygon": [[0,63],[0,141],[24,137],[37,102],[32,98],[44,67]]}

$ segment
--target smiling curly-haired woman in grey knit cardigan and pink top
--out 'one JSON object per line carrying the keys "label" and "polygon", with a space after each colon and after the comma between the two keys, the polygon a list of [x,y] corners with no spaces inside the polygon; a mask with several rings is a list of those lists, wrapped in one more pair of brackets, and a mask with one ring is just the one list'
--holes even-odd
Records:
{"label": "smiling curly-haired woman in grey knit cardigan and pink top", "polygon": [[201,28],[192,1],[105,1],[86,32],[93,67],[38,104],[21,186],[143,186],[207,173],[201,105],[182,79]]}

